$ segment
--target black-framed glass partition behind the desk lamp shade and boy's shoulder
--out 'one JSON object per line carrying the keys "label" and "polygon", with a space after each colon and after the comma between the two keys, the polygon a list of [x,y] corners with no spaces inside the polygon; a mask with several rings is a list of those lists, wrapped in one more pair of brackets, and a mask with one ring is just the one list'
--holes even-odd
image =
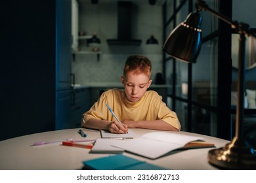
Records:
{"label": "black-framed glass partition behind the desk lamp shade and boy's shoulder", "polygon": [[[163,39],[195,10],[195,3],[192,0],[165,1]],[[232,0],[206,3],[217,12],[231,16]],[[177,112],[182,131],[230,140],[231,28],[209,12],[201,14],[203,44],[196,63],[182,63],[163,54],[165,82],[171,85],[171,109]]]}

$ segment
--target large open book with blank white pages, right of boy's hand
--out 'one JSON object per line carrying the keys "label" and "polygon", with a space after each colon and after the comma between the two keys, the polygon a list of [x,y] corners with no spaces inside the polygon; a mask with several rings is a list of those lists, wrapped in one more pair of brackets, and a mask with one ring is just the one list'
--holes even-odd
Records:
{"label": "large open book with blank white pages, right of boy's hand", "polygon": [[213,143],[203,142],[202,139],[203,137],[172,132],[152,132],[136,139],[114,141],[111,145],[133,154],[156,159],[173,150],[214,147]]}

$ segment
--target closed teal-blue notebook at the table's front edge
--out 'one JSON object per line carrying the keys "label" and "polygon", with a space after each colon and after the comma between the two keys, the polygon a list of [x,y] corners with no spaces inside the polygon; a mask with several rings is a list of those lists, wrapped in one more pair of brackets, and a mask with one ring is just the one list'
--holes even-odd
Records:
{"label": "closed teal-blue notebook at the table's front edge", "polygon": [[95,170],[164,170],[163,167],[123,156],[122,154],[83,161],[83,164],[83,169]]}

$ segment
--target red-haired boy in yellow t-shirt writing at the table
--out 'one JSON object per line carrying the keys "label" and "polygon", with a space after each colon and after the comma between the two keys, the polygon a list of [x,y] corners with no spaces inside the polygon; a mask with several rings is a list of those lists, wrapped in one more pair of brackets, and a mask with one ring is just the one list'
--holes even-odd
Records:
{"label": "red-haired boy in yellow t-shirt writing at the table", "polygon": [[[179,131],[177,114],[171,111],[154,91],[147,91],[152,83],[151,62],[145,56],[129,56],[125,62],[121,83],[125,90],[112,89],[100,96],[88,112],[83,114],[81,126],[106,129],[111,133],[127,133],[127,128]],[[120,125],[112,116],[108,104]]]}

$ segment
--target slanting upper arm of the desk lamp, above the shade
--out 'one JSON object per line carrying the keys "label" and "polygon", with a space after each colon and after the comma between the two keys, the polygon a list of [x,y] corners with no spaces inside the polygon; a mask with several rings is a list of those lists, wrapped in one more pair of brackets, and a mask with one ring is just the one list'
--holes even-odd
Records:
{"label": "slanting upper arm of the desk lamp, above the shade", "polygon": [[236,29],[238,34],[245,34],[247,36],[253,36],[256,38],[256,35],[249,29],[249,25],[243,22],[233,21],[227,16],[220,14],[219,12],[209,8],[209,6],[205,3],[205,1],[198,0],[196,1],[196,10],[205,10],[216,16],[217,18],[223,20],[227,24],[231,25],[232,29]]}

